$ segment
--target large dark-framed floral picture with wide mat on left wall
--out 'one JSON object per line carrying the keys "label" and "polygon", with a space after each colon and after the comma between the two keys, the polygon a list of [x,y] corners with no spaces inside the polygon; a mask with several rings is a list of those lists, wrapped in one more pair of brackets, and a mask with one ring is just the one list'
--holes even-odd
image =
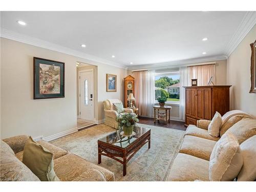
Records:
{"label": "large dark-framed floral picture with wide mat on left wall", "polygon": [[39,57],[33,61],[34,99],[65,97],[65,63]]}

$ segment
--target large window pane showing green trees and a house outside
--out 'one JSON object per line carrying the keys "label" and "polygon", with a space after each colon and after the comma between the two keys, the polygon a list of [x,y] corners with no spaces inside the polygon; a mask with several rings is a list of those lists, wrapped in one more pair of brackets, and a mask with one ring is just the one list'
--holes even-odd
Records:
{"label": "large window pane showing green trees and a house outside", "polygon": [[180,73],[156,73],[155,74],[155,100],[158,97],[166,97],[167,103],[180,102]]}

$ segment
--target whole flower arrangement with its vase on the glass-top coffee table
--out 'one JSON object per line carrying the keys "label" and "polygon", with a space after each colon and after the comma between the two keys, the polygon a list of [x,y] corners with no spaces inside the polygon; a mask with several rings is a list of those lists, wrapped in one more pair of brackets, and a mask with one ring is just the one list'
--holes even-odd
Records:
{"label": "whole flower arrangement with its vase on the glass-top coffee table", "polygon": [[133,127],[139,122],[139,119],[135,113],[124,113],[119,114],[116,117],[116,121],[118,122],[117,129],[122,129],[124,135],[130,136],[133,134]]}

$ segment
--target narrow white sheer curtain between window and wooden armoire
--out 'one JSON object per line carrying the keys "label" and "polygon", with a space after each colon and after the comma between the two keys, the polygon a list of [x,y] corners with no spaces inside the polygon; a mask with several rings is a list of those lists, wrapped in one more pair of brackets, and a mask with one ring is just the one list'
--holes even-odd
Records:
{"label": "narrow white sheer curtain between window and wooden armoire", "polygon": [[188,67],[180,68],[180,118],[182,120],[185,120],[185,88],[183,87],[190,86],[190,81]]}

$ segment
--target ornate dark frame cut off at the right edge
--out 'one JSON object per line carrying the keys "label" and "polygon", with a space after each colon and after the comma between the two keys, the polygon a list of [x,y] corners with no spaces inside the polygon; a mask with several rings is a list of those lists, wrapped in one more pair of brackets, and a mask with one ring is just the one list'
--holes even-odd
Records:
{"label": "ornate dark frame cut off at the right edge", "polygon": [[249,93],[256,93],[256,40],[250,44],[251,47],[251,89]]}

